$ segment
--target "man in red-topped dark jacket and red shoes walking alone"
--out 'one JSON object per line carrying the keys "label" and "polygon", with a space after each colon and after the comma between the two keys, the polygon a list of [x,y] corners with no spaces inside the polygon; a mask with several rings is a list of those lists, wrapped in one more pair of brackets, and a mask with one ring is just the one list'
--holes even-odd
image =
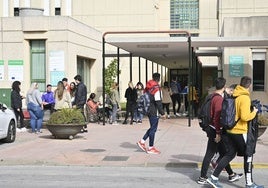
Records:
{"label": "man in red-topped dark jacket and red shoes walking alone", "polygon": [[[160,74],[154,73],[153,79],[149,80],[146,83],[145,92],[150,92],[150,107],[148,111],[148,118],[150,122],[150,128],[146,131],[144,136],[140,141],[137,142],[138,147],[149,154],[160,154],[161,152],[155,148],[154,140],[155,140],[155,133],[157,131],[159,117],[157,112],[161,114],[163,119],[166,118],[165,112],[162,107],[162,100],[161,100],[161,91],[159,86],[160,81]],[[149,138],[149,148],[146,148],[145,142]]]}

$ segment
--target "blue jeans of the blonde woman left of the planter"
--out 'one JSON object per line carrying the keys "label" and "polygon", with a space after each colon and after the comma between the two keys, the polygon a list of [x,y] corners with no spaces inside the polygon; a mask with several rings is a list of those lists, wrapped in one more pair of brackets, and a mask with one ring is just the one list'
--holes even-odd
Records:
{"label": "blue jeans of the blonde woman left of the planter", "polygon": [[30,114],[30,124],[32,128],[32,132],[40,131],[42,127],[44,112],[39,105],[34,103],[28,103],[27,109]]}

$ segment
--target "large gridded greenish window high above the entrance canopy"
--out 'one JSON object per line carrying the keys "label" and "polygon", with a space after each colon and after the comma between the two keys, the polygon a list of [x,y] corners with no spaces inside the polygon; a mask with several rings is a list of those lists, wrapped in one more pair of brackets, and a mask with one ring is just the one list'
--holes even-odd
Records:
{"label": "large gridded greenish window high above the entrance canopy", "polygon": [[170,28],[198,29],[199,1],[170,0]]}

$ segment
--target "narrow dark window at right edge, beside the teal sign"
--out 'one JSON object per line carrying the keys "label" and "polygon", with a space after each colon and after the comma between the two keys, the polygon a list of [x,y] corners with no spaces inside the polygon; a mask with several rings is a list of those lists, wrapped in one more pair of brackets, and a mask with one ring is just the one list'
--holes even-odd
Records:
{"label": "narrow dark window at right edge, beside the teal sign", "polygon": [[253,50],[253,91],[264,91],[266,50]]}

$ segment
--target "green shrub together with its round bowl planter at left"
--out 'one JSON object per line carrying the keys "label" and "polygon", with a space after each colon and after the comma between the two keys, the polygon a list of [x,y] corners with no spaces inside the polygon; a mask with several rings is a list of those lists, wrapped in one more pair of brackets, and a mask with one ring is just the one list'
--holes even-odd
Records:
{"label": "green shrub together with its round bowl planter at left", "polygon": [[79,109],[64,108],[51,114],[46,127],[55,138],[73,139],[85,125]]}

